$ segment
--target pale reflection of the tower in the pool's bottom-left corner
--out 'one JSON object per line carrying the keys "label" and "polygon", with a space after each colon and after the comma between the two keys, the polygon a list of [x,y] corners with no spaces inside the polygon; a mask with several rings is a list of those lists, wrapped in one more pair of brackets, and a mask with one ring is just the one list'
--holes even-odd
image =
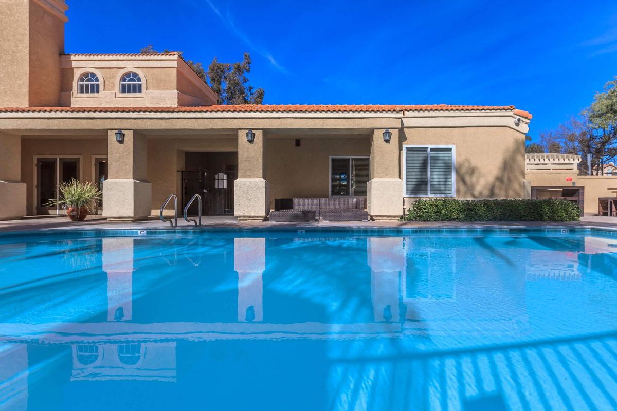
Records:
{"label": "pale reflection of the tower in the pool's bottom-left corner", "polygon": [[28,408],[26,344],[0,344],[0,404],[7,411]]}

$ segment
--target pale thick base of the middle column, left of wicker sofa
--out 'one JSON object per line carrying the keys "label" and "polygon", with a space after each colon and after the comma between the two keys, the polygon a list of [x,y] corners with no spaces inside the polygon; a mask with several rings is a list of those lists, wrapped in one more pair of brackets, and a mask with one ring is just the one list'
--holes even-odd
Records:
{"label": "pale thick base of the middle column, left of wicker sofa", "polygon": [[238,221],[263,221],[270,213],[270,183],[262,178],[237,179],[233,207]]}

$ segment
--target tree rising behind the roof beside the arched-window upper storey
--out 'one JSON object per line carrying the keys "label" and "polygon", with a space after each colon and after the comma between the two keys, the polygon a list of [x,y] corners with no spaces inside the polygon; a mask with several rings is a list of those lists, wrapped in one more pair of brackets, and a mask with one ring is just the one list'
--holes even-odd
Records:
{"label": "tree rising behind the roof beside the arched-window upper storey", "polygon": [[[141,49],[141,54],[159,54],[152,44]],[[165,49],[163,53],[170,53]],[[206,72],[201,62],[184,59],[182,52],[176,52],[197,75],[209,84],[218,96],[217,104],[262,104],[264,91],[249,84],[247,73],[251,73],[251,55],[244,53],[241,62],[222,63],[214,57]]]}

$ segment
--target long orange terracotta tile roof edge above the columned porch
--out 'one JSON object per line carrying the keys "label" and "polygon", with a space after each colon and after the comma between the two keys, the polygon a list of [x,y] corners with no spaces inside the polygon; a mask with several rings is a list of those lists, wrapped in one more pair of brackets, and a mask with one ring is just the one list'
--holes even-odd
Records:
{"label": "long orange terracotta tile roof edge above the columned porch", "polygon": [[531,114],[513,105],[329,105],[329,104],[238,104],[202,107],[26,107],[0,108],[0,113],[402,113],[402,112],[511,111],[531,119]]}

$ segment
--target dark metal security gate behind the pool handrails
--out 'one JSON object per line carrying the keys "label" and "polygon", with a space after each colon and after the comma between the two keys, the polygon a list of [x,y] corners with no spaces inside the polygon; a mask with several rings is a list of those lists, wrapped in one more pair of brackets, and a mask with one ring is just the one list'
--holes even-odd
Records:
{"label": "dark metal security gate behind the pool handrails", "polygon": [[[182,207],[191,200],[194,194],[202,196],[202,214],[233,215],[233,188],[236,171],[217,171],[209,173],[204,169],[199,171],[180,171],[182,178]],[[197,203],[194,203],[197,204]],[[197,214],[196,207],[191,205],[188,214]]]}

